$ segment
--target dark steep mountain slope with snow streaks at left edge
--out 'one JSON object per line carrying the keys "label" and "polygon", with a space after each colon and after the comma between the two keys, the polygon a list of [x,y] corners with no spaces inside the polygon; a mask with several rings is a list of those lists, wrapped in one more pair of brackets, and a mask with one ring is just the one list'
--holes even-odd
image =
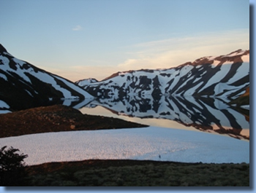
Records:
{"label": "dark steep mountain slope with snow streaks at left edge", "polygon": [[0,111],[43,106],[53,100],[93,98],[83,88],[10,55],[0,44]]}

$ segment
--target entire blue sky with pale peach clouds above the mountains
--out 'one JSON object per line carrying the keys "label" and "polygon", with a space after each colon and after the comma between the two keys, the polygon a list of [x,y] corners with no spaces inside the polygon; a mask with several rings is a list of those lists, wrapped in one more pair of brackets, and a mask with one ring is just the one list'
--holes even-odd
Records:
{"label": "entire blue sky with pale peach clouds above the mountains", "polygon": [[249,50],[246,0],[0,0],[0,7],[7,51],[73,82]]}

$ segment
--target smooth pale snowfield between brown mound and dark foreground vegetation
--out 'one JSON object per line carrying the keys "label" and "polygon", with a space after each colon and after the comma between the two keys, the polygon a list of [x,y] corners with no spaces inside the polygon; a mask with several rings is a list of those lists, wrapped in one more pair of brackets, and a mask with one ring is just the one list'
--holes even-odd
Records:
{"label": "smooth pale snowfield between brown mound and dark foreground vegetation", "polygon": [[83,159],[249,163],[249,141],[163,127],[41,133],[0,138],[28,154],[27,165]]}

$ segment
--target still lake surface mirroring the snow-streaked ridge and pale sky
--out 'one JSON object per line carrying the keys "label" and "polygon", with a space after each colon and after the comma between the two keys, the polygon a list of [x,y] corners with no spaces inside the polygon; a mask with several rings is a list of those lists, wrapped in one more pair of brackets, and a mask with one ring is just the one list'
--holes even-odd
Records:
{"label": "still lake surface mirroring the snow-streaked ridge and pale sky", "polygon": [[125,116],[130,121],[159,127],[181,128],[182,125],[185,129],[195,128],[249,140],[249,111],[239,112],[239,109],[229,106],[221,98],[164,95],[158,100],[138,96],[125,100],[97,98],[94,101],[83,101],[76,108],[86,114],[119,118]]}

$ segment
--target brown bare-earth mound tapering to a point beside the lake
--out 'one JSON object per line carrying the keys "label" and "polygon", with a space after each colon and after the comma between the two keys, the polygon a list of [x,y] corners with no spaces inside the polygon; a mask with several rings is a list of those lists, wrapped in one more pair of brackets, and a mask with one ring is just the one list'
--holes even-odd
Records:
{"label": "brown bare-earth mound tapering to a point beside the lake", "polygon": [[148,127],[111,117],[82,114],[72,107],[44,106],[9,114],[0,114],[0,138],[72,130],[109,130]]}

